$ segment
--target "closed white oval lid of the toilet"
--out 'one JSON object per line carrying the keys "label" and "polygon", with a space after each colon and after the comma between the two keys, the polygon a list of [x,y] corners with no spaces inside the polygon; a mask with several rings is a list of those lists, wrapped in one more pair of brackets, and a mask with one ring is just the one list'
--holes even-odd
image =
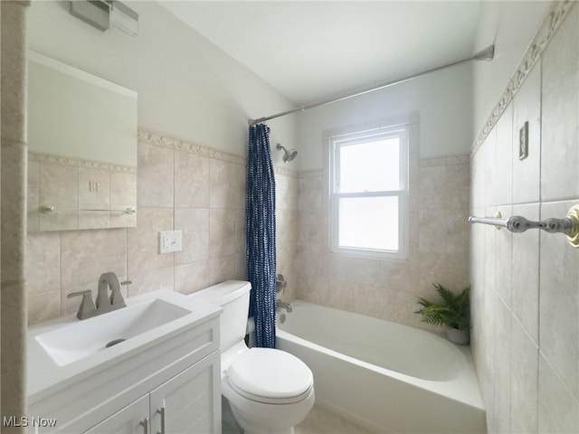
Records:
{"label": "closed white oval lid of the toilet", "polygon": [[251,348],[240,354],[227,374],[237,392],[256,401],[301,399],[308,395],[314,381],[306,363],[271,348]]}

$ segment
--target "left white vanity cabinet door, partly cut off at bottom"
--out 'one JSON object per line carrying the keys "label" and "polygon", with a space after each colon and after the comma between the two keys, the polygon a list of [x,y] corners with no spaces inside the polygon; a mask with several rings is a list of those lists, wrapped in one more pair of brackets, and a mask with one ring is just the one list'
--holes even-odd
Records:
{"label": "left white vanity cabinet door, partly cut off at bottom", "polygon": [[148,411],[149,396],[145,395],[84,434],[147,434]]}

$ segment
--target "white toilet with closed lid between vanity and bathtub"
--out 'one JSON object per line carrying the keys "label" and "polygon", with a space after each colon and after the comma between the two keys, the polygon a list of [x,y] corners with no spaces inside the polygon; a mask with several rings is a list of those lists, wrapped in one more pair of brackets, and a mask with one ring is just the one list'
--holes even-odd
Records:
{"label": "white toilet with closed lid between vanity and bathtub", "polygon": [[221,385],[233,418],[245,433],[293,433],[314,405],[314,377],[293,354],[245,344],[249,282],[228,280],[191,297],[223,308]]}

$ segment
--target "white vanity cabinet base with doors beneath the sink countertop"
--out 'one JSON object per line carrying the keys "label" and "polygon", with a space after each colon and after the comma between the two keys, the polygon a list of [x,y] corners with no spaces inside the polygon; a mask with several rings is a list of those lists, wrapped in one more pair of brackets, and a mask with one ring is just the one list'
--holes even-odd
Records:
{"label": "white vanity cabinet base with doors beneath the sink countertop", "polygon": [[212,309],[184,331],[29,397],[29,413],[57,425],[25,432],[220,433],[220,309]]}

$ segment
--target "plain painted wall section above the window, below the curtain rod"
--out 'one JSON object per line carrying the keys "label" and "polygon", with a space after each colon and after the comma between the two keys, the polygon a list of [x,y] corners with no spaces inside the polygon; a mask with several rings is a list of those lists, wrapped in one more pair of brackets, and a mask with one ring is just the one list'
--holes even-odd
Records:
{"label": "plain painted wall section above the window, below the curtain rod", "polygon": [[298,116],[299,169],[322,167],[322,133],[380,118],[420,113],[420,157],[466,154],[471,143],[471,65],[465,63]]}

